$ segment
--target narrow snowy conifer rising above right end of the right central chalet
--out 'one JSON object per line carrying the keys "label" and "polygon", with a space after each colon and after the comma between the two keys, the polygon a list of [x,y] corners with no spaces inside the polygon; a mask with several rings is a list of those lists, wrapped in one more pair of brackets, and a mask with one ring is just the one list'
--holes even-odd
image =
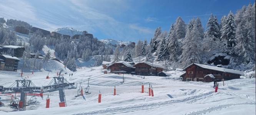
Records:
{"label": "narrow snowy conifer rising above right end of the right central chalet", "polygon": [[158,60],[161,60],[161,61],[167,58],[167,48],[166,48],[165,39],[162,39],[161,44],[158,48],[157,58]]}

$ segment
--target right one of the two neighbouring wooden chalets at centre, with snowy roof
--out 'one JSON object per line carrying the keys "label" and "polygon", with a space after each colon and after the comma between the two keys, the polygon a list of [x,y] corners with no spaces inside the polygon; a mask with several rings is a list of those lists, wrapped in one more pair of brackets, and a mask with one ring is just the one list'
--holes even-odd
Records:
{"label": "right one of the two neighbouring wooden chalets at centre, with snowy roof", "polygon": [[138,62],[133,67],[136,67],[135,74],[141,75],[141,76],[151,76],[151,75],[157,75],[159,72],[163,71],[165,68],[164,66],[161,66],[159,64],[154,64],[152,62]]}

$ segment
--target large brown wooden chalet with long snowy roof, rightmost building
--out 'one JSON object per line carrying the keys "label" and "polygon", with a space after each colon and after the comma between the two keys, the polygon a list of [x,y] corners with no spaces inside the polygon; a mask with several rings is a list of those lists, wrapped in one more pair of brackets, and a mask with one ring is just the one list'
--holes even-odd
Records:
{"label": "large brown wooden chalet with long snowy roof, rightmost building", "polygon": [[244,72],[241,71],[196,63],[185,67],[183,71],[186,71],[183,81],[212,82],[214,79],[221,81],[222,79],[239,79],[240,76],[244,76]]}

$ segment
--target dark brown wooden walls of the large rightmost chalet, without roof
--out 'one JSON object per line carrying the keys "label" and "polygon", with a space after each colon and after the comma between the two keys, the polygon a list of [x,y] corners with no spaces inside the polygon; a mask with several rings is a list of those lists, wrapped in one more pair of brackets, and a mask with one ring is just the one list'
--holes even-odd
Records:
{"label": "dark brown wooden walls of the large rightmost chalet, without roof", "polygon": [[208,74],[213,74],[213,76],[217,81],[221,81],[222,79],[224,80],[239,79],[241,76],[241,74],[232,73],[232,72],[227,73],[227,72],[218,71],[210,68],[211,67],[206,69],[196,64],[191,64],[190,66],[183,69],[186,71],[185,76],[183,76],[183,81],[212,82],[213,79],[211,80],[208,77],[204,77],[204,76],[207,76]]}

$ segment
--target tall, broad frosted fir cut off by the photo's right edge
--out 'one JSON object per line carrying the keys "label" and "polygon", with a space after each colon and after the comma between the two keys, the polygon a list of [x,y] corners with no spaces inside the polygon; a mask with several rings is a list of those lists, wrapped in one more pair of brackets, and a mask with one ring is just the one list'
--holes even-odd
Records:
{"label": "tall, broad frosted fir cut off by the photo's right edge", "polygon": [[238,10],[235,20],[238,24],[236,53],[241,57],[241,63],[255,63],[255,7],[250,3],[247,8]]}

